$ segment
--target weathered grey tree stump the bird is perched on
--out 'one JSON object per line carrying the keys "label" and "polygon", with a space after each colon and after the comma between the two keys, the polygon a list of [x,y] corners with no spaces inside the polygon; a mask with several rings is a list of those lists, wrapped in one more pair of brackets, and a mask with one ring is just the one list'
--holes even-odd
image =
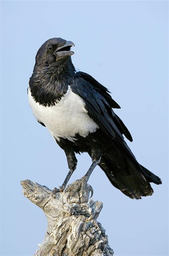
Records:
{"label": "weathered grey tree stump the bird is perched on", "polygon": [[[105,229],[96,219],[103,204],[89,200],[91,186],[74,197],[56,193],[30,180],[21,181],[24,195],[39,206],[47,218],[45,238],[35,256],[113,255]],[[88,201],[89,200],[89,201]]]}

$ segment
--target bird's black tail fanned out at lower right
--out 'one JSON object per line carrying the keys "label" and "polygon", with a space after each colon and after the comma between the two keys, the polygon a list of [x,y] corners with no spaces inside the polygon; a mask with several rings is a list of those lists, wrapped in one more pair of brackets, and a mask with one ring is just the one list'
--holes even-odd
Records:
{"label": "bird's black tail fanned out at lower right", "polygon": [[149,182],[162,183],[158,176],[142,165],[140,165],[139,170],[136,169],[124,155],[121,155],[121,161],[117,162],[117,158],[109,152],[109,154],[102,156],[99,166],[106,173],[113,186],[130,198],[140,199],[141,196],[152,195],[153,189]]}

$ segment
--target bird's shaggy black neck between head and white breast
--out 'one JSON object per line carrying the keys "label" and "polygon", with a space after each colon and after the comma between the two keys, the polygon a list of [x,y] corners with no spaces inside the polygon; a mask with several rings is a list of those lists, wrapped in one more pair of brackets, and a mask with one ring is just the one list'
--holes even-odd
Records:
{"label": "bird's shaggy black neck between head and white breast", "polygon": [[36,65],[29,81],[31,95],[44,106],[55,105],[67,92],[75,77],[71,58],[60,59],[52,64]]}

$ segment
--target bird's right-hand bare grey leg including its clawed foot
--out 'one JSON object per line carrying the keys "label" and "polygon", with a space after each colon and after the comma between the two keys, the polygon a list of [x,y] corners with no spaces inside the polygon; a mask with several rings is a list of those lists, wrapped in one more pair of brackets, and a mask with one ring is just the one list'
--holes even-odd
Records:
{"label": "bird's right-hand bare grey leg including its clawed foot", "polygon": [[[100,160],[101,160],[101,157],[98,160],[94,159],[92,161],[92,164],[89,167],[88,171],[86,172],[86,174],[80,180],[76,180],[75,182],[73,182],[73,184],[70,184],[67,186],[66,192],[70,192],[70,196],[73,196],[80,189],[82,190],[82,193],[84,194],[84,191],[85,191],[85,188],[87,185],[87,181],[89,180],[89,177],[90,177],[92,171],[98,165]],[[93,195],[93,189],[91,189],[91,192]]]}

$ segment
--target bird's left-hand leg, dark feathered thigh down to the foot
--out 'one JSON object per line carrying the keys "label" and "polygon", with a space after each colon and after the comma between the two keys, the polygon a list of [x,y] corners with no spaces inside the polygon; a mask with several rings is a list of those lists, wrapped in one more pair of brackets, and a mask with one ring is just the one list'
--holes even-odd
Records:
{"label": "bird's left-hand leg, dark feathered thigh down to the foot", "polygon": [[77,159],[76,159],[75,152],[73,151],[73,149],[69,148],[69,149],[65,150],[65,154],[66,154],[66,158],[67,158],[69,172],[66,175],[66,178],[63,181],[62,186],[60,186],[58,189],[54,188],[52,190],[53,194],[55,194],[57,192],[63,192],[63,190],[66,188],[67,182],[69,181],[70,177],[72,176],[72,173],[76,170]]}

